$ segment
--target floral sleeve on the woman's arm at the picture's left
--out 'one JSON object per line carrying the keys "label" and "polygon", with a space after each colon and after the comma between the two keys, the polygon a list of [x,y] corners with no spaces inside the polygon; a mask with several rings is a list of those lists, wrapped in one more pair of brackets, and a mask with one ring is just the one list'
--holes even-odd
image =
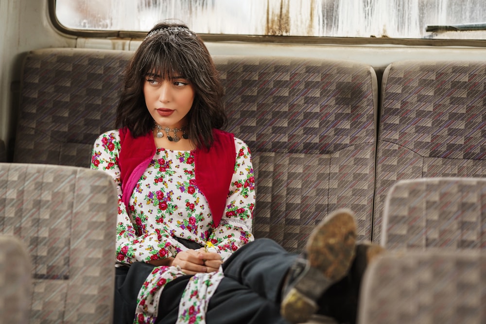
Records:
{"label": "floral sleeve on the woman's arm at the picture's left", "polygon": [[[179,244],[168,232],[161,228],[142,228],[143,212],[135,212],[136,202],[129,206],[133,219],[127,213],[121,201],[121,179],[118,157],[120,153],[120,136],[118,131],[102,134],[93,147],[91,169],[102,170],[113,177],[118,191],[116,259],[118,262],[131,264],[135,261],[146,262],[153,259],[175,256],[186,248]],[[136,188],[137,189],[137,188]]]}

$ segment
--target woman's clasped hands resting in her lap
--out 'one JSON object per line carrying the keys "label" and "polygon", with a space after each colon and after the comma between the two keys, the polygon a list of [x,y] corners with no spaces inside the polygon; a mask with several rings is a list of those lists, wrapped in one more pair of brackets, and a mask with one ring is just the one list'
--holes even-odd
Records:
{"label": "woman's clasped hands resting in her lap", "polygon": [[200,248],[181,251],[175,257],[151,260],[149,263],[155,266],[179,266],[186,274],[196,274],[218,271],[223,260],[218,253],[206,252],[204,248]]}

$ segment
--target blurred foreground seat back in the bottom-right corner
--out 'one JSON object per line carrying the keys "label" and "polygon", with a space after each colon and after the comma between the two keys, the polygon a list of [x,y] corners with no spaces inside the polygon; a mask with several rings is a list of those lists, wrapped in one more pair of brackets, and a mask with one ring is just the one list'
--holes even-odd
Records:
{"label": "blurred foreground seat back in the bottom-right corner", "polygon": [[361,286],[358,324],[485,323],[484,250],[387,252]]}

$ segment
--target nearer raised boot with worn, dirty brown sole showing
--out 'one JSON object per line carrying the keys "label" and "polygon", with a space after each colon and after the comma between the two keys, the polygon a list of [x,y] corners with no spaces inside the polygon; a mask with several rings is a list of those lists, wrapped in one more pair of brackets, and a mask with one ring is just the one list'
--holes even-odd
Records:
{"label": "nearer raised boot with worn, dirty brown sole showing", "polygon": [[283,286],[280,313],[290,323],[307,321],[317,300],[344,278],[355,256],[356,222],[349,209],[331,213],[312,232],[306,258],[297,259]]}

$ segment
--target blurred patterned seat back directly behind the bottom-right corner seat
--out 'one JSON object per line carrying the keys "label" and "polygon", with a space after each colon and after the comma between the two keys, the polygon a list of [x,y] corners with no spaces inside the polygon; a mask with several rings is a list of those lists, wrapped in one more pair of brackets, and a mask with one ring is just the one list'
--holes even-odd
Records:
{"label": "blurred patterned seat back directly behind the bottom-right corner seat", "polygon": [[400,180],[382,224],[387,249],[485,249],[486,178]]}

